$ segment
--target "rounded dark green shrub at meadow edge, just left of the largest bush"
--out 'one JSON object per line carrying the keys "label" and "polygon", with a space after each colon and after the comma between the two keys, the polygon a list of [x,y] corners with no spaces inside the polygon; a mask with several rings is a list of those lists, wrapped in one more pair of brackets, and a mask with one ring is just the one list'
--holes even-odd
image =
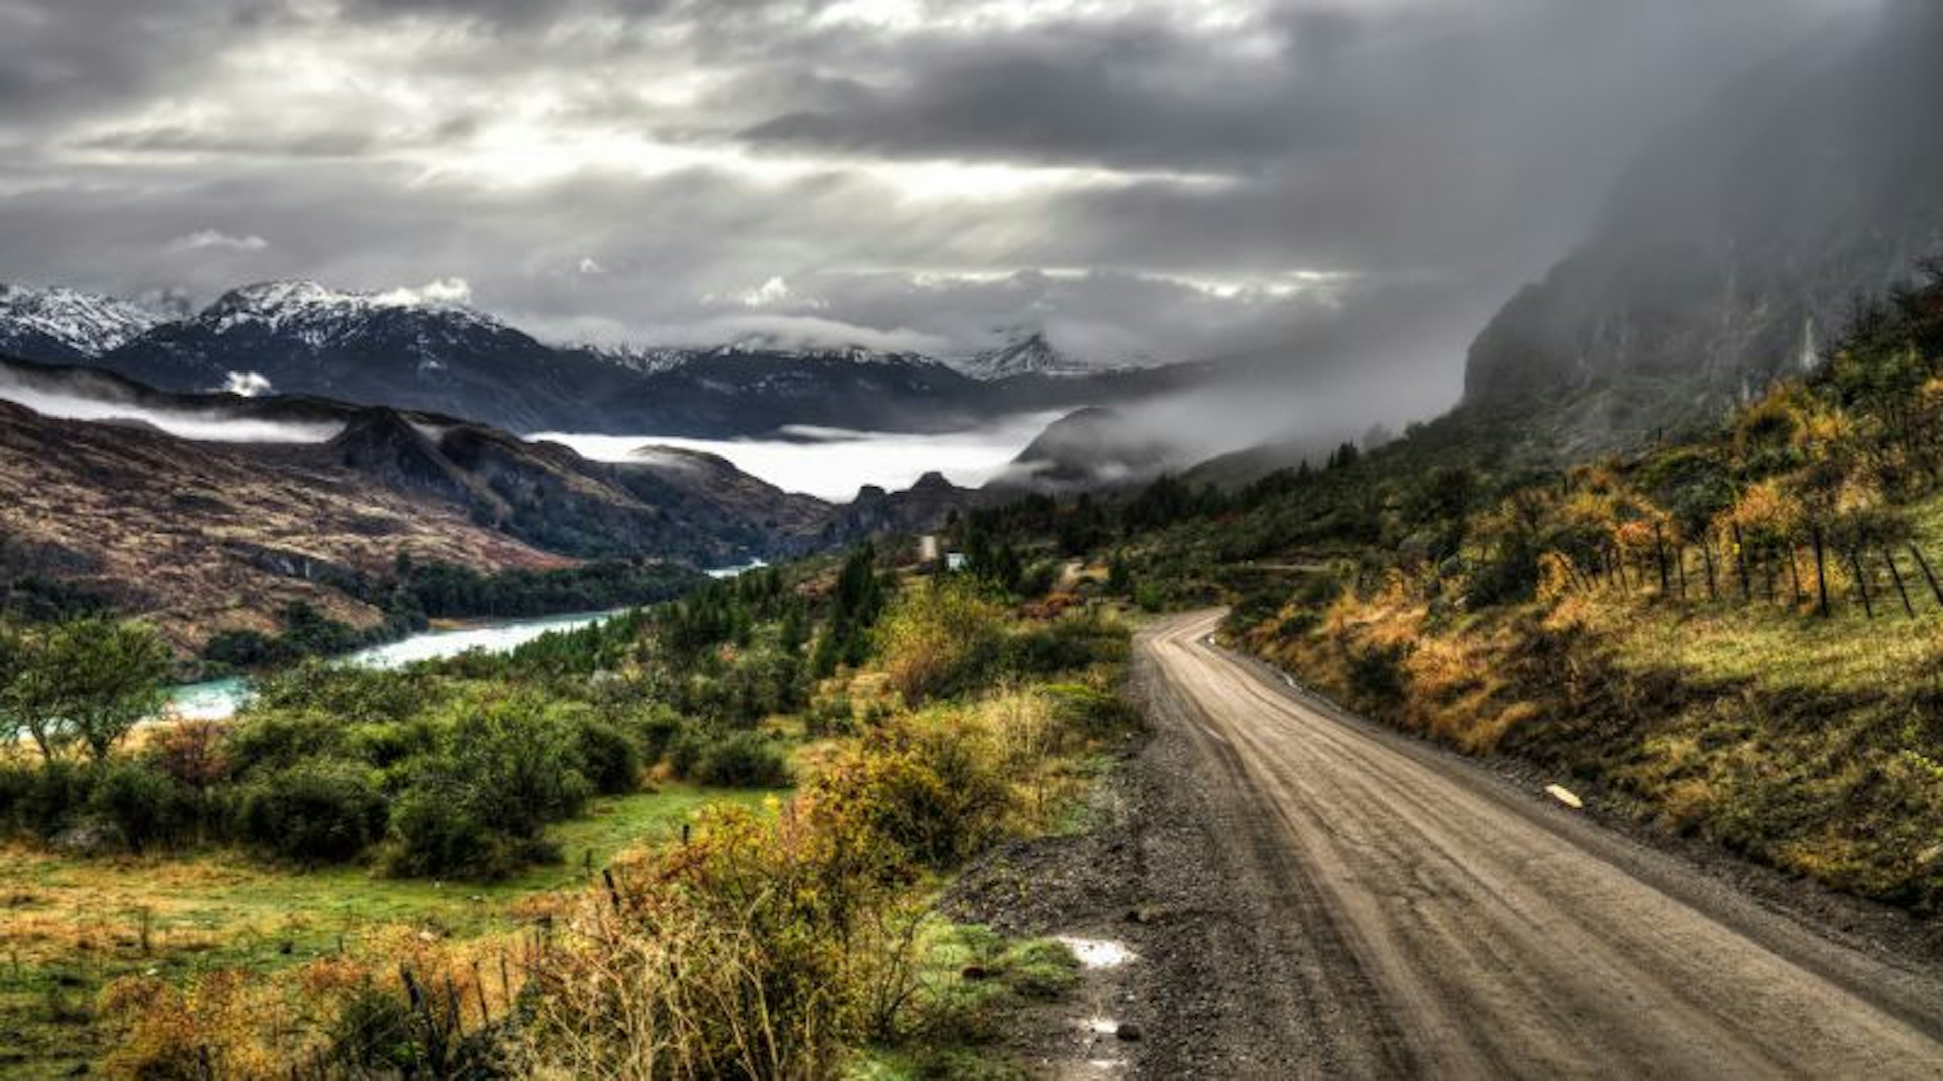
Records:
{"label": "rounded dark green shrub at meadow edge, just left of the largest bush", "polygon": [[383,838],[387,817],[367,768],[321,758],[251,785],[237,830],[286,859],[342,861]]}

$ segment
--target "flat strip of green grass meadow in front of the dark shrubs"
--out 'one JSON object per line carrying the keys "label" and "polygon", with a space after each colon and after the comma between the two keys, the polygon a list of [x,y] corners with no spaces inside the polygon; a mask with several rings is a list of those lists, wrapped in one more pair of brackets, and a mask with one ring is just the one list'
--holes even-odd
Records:
{"label": "flat strip of green grass meadow in front of the dark shrubs", "polygon": [[589,859],[598,873],[626,848],[680,836],[705,803],[760,805],[769,795],[665,785],[600,799],[587,817],[548,830],[563,863],[497,883],[389,879],[369,867],[305,871],[241,852],[84,859],[0,848],[0,1073],[52,1077],[99,1058],[107,1048],[85,1013],[119,976],[268,972],[356,953],[398,925],[441,937],[511,931],[521,902],[577,889]]}

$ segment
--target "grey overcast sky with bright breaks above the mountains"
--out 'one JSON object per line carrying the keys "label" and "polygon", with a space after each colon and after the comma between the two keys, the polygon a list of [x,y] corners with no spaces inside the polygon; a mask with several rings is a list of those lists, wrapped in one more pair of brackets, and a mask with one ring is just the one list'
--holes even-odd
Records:
{"label": "grey overcast sky with bright breaks above the mountains", "polygon": [[1463,346],[1867,0],[0,0],[0,280],[437,282],[542,336]]}

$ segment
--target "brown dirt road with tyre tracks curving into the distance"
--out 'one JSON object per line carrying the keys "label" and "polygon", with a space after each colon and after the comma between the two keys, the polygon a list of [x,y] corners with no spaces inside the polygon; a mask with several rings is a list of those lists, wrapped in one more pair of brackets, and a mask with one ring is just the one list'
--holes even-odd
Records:
{"label": "brown dirt road with tyre tracks curving into the distance", "polygon": [[1201,908],[1195,941],[1158,959],[1174,1001],[1150,1003],[1195,1046],[1142,1073],[1943,1077],[1943,986],[1924,966],[1834,945],[1308,698],[1212,647],[1218,618],[1170,620],[1137,649],[1197,817],[1142,863],[1207,879],[1154,883],[1199,898],[1177,902]]}

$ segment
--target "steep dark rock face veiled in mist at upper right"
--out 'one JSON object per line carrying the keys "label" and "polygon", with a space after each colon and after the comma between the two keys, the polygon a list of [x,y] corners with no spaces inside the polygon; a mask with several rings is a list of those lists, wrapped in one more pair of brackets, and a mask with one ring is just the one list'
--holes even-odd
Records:
{"label": "steep dark rock face veiled in mist at upper right", "polygon": [[1479,334],[1465,402],[1632,383],[1642,412],[1714,412],[1813,364],[1858,296],[1943,253],[1937,101],[1943,8],[1914,0],[1741,78]]}

